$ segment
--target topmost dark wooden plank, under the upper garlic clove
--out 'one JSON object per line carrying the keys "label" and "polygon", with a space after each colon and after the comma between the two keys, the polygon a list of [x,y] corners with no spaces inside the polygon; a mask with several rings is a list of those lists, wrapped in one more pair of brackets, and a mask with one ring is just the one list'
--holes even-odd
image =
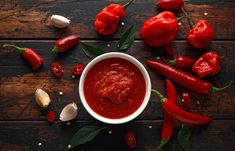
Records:
{"label": "topmost dark wooden plank, under the upper garlic clove", "polygon": [[[126,0],[115,0],[124,4]],[[154,2],[157,2],[155,0]],[[15,0],[0,2],[1,26],[0,38],[32,38],[55,39],[63,34],[81,34],[84,39],[100,39],[94,29],[95,15],[111,1],[100,0]],[[207,19],[214,27],[217,39],[235,39],[235,4],[232,0],[192,0],[186,5],[186,10],[195,20]],[[219,10],[219,11],[218,11]],[[136,24],[139,30],[145,20],[157,14],[160,10],[155,8],[152,0],[136,0],[127,10],[123,19],[125,26],[120,26],[117,33],[103,39],[118,38],[128,26]],[[208,15],[204,16],[204,12]],[[182,12],[178,12],[182,15]],[[60,14],[72,20],[68,29],[56,29],[49,23],[52,14]],[[188,30],[183,24],[178,39],[185,39]],[[137,36],[139,38],[139,36]]]}

